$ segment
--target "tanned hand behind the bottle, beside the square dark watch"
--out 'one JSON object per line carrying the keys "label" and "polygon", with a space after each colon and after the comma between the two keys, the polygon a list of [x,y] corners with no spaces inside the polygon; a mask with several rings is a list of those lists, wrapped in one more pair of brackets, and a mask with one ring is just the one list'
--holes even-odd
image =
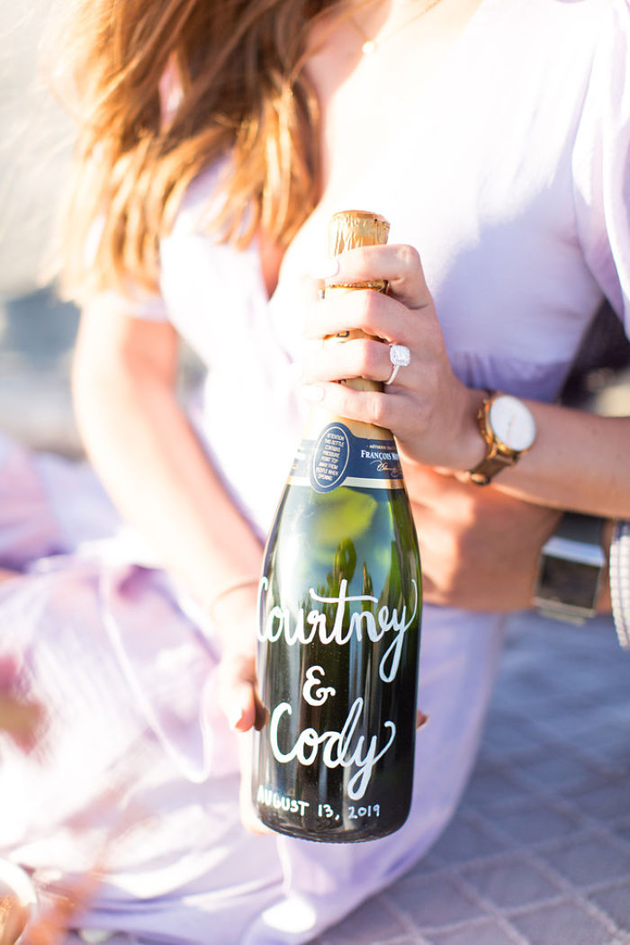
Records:
{"label": "tanned hand behind the bottle, beside the square dark watch", "polygon": [[560,513],[417,463],[404,467],[424,599],[467,610],[531,607],[540,548]]}

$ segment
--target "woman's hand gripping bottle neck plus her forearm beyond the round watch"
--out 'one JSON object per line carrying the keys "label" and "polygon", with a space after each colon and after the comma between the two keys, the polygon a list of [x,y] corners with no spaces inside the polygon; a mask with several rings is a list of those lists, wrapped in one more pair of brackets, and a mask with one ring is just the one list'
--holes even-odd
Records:
{"label": "woman's hand gripping bottle neck plus her forearm beyond the round watch", "polygon": [[[387,380],[392,370],[388,345],[374,337],[320,345],[304,370],[305,380],[315,383],[314,396],[340,416],[391,429],[409,462],[453,474],[473,469],[485,455],[475,419],[485,392],[466,387],[451,369],[417,252],[404,246],[352,249],[338,257],[338,266],[334,279],[340,283],[382,278],[389,282],[390,295],[334,296],[315,307],[309,335],[361,329],[407,346],[411,362],[383,393],[358,391],[329,382]],[[536,418],[536,442],[491,488],[536,505],[630,517],[630,418],[528,405]]]}

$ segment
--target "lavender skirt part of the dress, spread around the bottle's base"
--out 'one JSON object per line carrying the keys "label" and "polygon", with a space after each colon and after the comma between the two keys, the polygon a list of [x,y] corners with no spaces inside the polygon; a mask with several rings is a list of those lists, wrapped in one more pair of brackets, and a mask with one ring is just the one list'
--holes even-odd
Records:
{"label": "lavender skirt part of the dress, spread around the bottle's base", "polygon": [[[87,466],[0,442],[0,656],[45,709],[38,746],[0,736],[0,855],[51,890],[96,871],[75,924],[216,945],[307,942],[410,868],[474,761],[502,621],[425,607],[414,799],[397,833],[326,845],[250,833],[239,743],[216,704],[220,651],[138,563]],[[81,496],[83,514],[64,506]],[[246,736],[247,737],[247,736]]]}

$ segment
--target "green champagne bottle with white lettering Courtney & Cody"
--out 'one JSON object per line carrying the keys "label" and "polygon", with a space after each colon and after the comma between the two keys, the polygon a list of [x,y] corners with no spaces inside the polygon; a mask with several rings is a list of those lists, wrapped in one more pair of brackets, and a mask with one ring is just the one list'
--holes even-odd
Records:
{"label": "green champagne bottle with white lettering Courtney & Cody", "polygon": [[[375,214],[337,214],[330,249],[384,243],[388,230]],[[386,285],[326,291],[365,287]],[[268,722],[255,736],[252,799],[268,827],[332,843],[400,828],[412,794],[420,613],[416,529],[393,435],[314,407],[260,583]]]}

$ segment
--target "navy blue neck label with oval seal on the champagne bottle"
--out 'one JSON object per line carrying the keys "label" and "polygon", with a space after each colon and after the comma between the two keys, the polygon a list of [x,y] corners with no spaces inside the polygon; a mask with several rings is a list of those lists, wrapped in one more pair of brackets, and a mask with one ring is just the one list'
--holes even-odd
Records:
{"label": "navy blue neck label with oval seal on the champagne bottle", "polygon": [[308,482],[316,492],[332,492],[344,484],[390,489],[401,485],[400,457],[393,439],[355,437],[337,421],[316,440],[302,440],[291,480]]}

